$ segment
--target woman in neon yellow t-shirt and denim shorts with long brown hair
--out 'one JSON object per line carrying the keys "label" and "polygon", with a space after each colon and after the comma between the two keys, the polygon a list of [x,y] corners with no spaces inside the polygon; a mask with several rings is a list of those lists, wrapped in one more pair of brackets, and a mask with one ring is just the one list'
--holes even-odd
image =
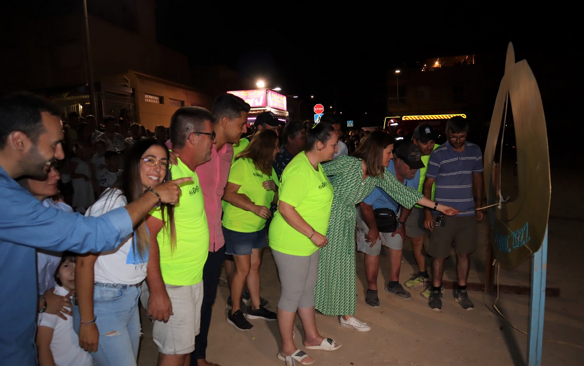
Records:
{"label": "woman in neon yellow t-shirt and denim shorts with long brown hair", "polygon": [[231,311],[227,322],[239,330],[252,329],[239,308],[247,283],[251,297],[248,319],[276,320],[276,313],[260,303],[259,267],[267,246],[266,221],[272,217],[270,205],[277,200],[277,175],[272,164],[278,153],[278,135],[262,129],[253,135],[244,151],[231,165],[223,199],[225,253],[233,255],[235,275],[231,281]]}

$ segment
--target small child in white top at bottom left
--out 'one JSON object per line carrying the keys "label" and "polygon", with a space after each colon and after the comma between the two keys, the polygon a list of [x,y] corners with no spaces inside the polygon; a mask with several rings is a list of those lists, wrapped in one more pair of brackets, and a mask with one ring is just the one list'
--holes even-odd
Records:
{"label": "small child in white top at bottom left", "polygon": [[[65,296],[75,290],[75,256],[71,252],[63,253],[54,274],[57,285],[55,294]],[[40,366],[91,366],[91,355],[79,347],[79,339],[73,330],[73,318],[65,315],[67,320],[57,315],[40,313],[37,329],[37,350]]]}

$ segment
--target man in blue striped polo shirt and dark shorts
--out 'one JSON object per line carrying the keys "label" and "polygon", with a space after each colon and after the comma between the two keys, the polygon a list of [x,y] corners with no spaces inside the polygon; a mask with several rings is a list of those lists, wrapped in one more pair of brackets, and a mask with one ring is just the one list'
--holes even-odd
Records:
{"label": "man in blue striped polo shirt and dark shorts", "polygon": [[466,141],[468,121],[455,116],[446,123],[447,141],[430,155],[424,180],[423,194],[430,198],[432,184],[436,183],[434,201],[450,205],[460,211],[452,217],[432,212],[424,225],[432,234],[428,254],[432,261],[432,293],[428,305],[433,311],[442,310],[442,276],[444,260],[450,256],[451,245],[456,252],[458,287],[454,299],[465,310],[474,305],[468,298],[467,279],[470,255],[477,249],[477,221],[482,220],[481,207],[484,178],[482,152],[478,145]]}

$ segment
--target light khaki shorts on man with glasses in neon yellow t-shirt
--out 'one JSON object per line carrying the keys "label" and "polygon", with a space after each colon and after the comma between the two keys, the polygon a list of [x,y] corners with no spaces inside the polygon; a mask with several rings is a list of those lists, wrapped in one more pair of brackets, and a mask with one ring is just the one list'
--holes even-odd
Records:
{"label": "light khaki shorts on man with glasses in neon yellow t-shirt", "polygon": [[[190,286],[165,286],[171,299],[173,315],[167,323],[154,321],[152,339],[162,354],[192,353],[194,337],[199,334],[201,323],[203,281]],[[144,288],[142,286],[142,290]],[[148,306],[148,295],[148,291],[142,291],[140,301],[144,306]]]}

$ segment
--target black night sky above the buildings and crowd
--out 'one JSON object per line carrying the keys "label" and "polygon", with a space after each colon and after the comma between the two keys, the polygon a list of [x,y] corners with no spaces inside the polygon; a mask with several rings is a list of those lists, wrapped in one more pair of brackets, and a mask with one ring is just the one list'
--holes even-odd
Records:
{"label": "black night sky above the buildings and crowd", "polygon": [[388,70],[448,55],[500,53],[504,60],[512,42],[516,60],[526,58],[543,79],[551,77],[545,69],[573,58],[566,46],[576,39],[563,9],[157,4],[158,41],[192,65],[224,64],[284,95],[314,94],[325,110],[336,103],[345,116],[367,112],[376,122],[385,116]]}

